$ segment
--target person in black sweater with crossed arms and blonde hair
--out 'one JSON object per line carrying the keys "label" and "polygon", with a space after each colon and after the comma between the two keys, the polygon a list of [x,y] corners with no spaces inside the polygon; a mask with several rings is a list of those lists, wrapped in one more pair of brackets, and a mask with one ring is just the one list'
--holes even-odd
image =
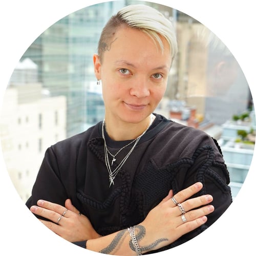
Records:
{"label": "person in black sweater with crossed arms and blonde hair", "polygon": [[180,245],[232,202],[217,141],[154,113],[177,53],[159,11],[130,5],[103,28],[93,56],[104,120],[50,146],[26,202],[83,248],[140,255]]}

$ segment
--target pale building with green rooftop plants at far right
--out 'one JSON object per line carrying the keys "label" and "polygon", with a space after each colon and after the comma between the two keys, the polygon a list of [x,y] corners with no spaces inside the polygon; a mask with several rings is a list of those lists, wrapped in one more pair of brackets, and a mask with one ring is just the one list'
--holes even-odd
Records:
{"label": "pale building with green rooftop plants at far right", "polygon": [[255,131],[254,106],[251,111],[234,115],[222,124],[219,143],[230,173],[233,197],[237,196],[249,172],[255,148]]}

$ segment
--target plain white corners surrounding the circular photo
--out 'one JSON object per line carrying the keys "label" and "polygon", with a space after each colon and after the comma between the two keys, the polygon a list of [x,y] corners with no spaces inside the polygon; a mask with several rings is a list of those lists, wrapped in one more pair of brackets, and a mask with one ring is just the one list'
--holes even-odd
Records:
{"label": "plain white corners surrounding the circular photo", "polygon": [[[106,1],[35,1],[0,2],[0,104],[7,82],[19,58],[32,42],[60,18],[83,7]],[[166,1],[153,1],[167,5]],[[253,1],[169,0],[168,6],[178,9],[203,23],[214,32],[238,60],[255,97],[255,9]],[[0,105],[0,106],[1,106]],[[15,161],[15,159],[13,159]],[[236,200],[225,214],[195,239],[161,255],[217,255],[224,253],[252,255],[254,234],[255,157]],[[14,255],[94,255],[59,238],[31,216],[19,198],[8,176],[0,152],[0,254]]]}

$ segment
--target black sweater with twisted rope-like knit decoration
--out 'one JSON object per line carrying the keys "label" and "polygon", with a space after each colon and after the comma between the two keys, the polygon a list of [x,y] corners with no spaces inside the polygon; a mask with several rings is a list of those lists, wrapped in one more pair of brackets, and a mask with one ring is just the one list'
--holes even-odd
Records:
{"label": "black sweater with twisted rope-like knit decoration", "polygon": [[[110,187],[101,128],[99,122],[86,132],[48,148],[28,207],[36,205],[38,199],[64,205],[70,198],[104,236],[139,224],[170,189],[176,194],[197,181],[202,182],[203,189],[195,196],[212,195],[215,211],[208,215],[205,225],[160,249],[163,250],[197,236],[230,205],[229,174],[220,147],[206,133],[156,115],[151,129],[141,137]],[[129,143],[113,141],[104,134],[113,155]],[[116,156],[113,168],[132,145]]]}

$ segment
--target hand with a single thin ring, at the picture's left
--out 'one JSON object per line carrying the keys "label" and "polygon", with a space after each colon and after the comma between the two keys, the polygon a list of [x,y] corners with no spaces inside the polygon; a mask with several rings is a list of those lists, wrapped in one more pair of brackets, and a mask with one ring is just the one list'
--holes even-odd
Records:
{"label": "hand with a single thin ring, at the picture's left", "polygon": [[[38,200],[37,205],[38,206],[31,206],[30,210],[33,214],[50,220],[40,221],[60,237],[70,242],[78,242],[100,237],[94,230],[89,219],[86,216],[79,214],[79,211],[72,205],[70,199],[67,199],[65,202],[66,208],[62,205],[44,200]],[[61,217],[61,215],[63,216]]]}

